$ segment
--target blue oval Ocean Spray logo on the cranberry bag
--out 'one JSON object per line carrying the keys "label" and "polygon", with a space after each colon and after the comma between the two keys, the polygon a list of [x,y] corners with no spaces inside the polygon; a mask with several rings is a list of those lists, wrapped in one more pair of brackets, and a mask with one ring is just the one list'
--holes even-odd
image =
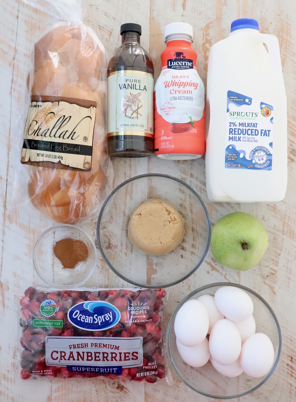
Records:
{"label": "blue oval Ocean Spray logo on the cranberry bag", "polygon": [[84,301],[70,308],[68,320],[77,328],[101,331],[116,325],[120,312],[107,301]]}

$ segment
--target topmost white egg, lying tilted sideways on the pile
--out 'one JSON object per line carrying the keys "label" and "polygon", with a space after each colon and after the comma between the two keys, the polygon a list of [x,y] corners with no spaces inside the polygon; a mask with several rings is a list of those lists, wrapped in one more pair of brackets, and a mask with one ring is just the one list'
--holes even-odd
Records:
{"label": "topmost white egg, lying tilted sideways on the pile", "polygon": [[253,314],[253,301],[242,289],[222,286],[214,295],[218,310],[229,320],[244,321]]}

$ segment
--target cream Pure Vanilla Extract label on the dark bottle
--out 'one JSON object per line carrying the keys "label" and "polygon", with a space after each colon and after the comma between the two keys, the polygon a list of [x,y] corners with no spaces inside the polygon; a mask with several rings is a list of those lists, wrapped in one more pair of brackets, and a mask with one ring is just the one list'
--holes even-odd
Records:
{"label": "cream Pure Vanilla Extract label on the dark bottle", "polygon": [[108,137],[154,136],[153,76],[142,71],[116,71],[108,76]]}

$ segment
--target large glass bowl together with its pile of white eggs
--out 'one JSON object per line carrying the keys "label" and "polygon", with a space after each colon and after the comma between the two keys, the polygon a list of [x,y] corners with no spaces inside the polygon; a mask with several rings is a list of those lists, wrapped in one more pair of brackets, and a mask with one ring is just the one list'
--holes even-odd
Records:
{"label": "large glass bowl together with its pile of white eggs", "polygon": [[203,286],[183,299],[167,328],[167,353],[192,390],[216,399],[257,390],[280,358],[274,311],[255,291],[234,283]]}

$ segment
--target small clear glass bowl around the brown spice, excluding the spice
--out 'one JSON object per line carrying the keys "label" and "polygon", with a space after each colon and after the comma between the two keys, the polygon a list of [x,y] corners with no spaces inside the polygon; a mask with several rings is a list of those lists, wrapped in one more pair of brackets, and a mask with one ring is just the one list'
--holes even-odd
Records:
{"label": "small clear glass bowl around the brown spice, excluding the spice", "polygon": [[[88,248],[88,258],[80,261],[72,269],[63,268],[61,261],[55,256],[53,248],[61,239],[81,240]],[[59,289],[71,289],[87,281],[97,262],[97,250],[94,242],[84,230],[73,225],[57,225],[45,230],[35,243],[33,264],[47,285]]]}

